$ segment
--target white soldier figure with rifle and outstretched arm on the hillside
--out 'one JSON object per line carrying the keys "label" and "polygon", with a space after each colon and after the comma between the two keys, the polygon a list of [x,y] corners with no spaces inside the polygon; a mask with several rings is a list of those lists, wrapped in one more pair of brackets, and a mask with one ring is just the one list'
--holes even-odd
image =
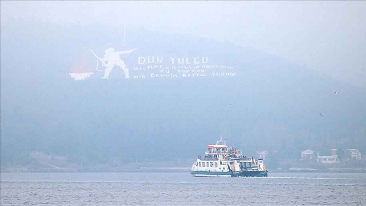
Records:
{"label": "white soldier figure with rifle and outstretched arm on the hillside", "polygon": [[[105,66],[105,70],[104,70],[105,72],[104,72],[104,76],[102,77],[102,79],[107,79],[109,77],[109,73],[111,73],[111,71],[115,65],[122,68],[123,73],[124,73],[124,78],[130,79],[131,77],[130,77],[130,74],[128,73],[128,68],[124,64],[123,60],[120,58],[120,55],[121,54],[130,54],[131,52],[133,52],[135,50],[137,50],[137,48],[130,49],[127,51],[115,52],[113,48],[109,48],[109,49],[105,50],[104,58],[100,58],[96,54],[94,54],[94,52],[90,49],[90,51],[93,52],[94,56],[96,56]],[[97,64],[97,70],[98,70],[98,64]]]}

